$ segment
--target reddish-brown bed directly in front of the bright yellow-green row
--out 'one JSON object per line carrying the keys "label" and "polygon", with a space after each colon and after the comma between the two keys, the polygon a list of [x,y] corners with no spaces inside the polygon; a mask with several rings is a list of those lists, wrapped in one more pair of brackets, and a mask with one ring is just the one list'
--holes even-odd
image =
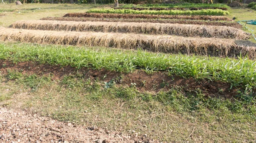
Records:
{"label": "reddish-brown bed directly in front of the bright yellow-green row", "polygon": [[149,15],[149,14],[98,14],[98,13],[67,13],[63,17],[123,18],[123,19],[178,19],[178,20],[210,20],[232,21],[224,16],[185,16],[185,15]]}

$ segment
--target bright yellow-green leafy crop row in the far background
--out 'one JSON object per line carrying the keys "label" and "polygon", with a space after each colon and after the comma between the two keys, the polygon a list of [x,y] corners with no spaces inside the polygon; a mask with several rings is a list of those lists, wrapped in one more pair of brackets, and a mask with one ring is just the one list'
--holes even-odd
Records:
{"label": "bright yellow-green leafy crop row in the far background", "polygon": [[163,14],[163,15],[228,15],[228,11],[220,9],[203,9],[198,11],[182,11],[182,10],[132,10],[132,9],[90,9],[88,13],[112,13],[112,14]]}

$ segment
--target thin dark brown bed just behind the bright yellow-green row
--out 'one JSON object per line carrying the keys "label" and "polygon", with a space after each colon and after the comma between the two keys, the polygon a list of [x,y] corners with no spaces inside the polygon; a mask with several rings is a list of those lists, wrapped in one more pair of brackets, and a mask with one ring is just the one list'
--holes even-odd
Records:
{"label": "thin dark brown bed just behind the bright yellow-green row", "polygon": [[221,10],[227,10],[227,8],[220,8],[220,7],[211,7],[211,8],[114,8],[114,9],[132,9],[132,10],[156,10],[156,11],[161,11],[161,10],[191,10],[191,11],[197,11],[197,10],[202,10],[202,9],[221,9]]}

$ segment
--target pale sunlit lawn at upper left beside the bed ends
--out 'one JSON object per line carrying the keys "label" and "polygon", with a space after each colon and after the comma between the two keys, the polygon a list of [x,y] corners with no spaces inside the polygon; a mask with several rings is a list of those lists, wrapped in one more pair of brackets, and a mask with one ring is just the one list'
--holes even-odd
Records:
{"label": "pale sunlit lawn at upper left beside the bed ends", "polygon": [[[112,5],[96,5],[108,8]],[[8,27],[17,20],[39,20],[43,17],[62,17],[69,12],[86,12],[95,8],[94,4],[46,4],[29,3],[16,6],[15,3],[0,3],[0,27]],[[20,12],[20,13],[19,13]],[[2,16],[2,14],[4,14]]]}

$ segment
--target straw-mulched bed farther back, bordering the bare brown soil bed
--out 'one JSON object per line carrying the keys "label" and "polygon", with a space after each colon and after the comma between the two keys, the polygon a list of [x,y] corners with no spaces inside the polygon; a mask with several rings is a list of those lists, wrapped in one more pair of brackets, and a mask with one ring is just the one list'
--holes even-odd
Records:
{"label": "straw-mulched bed farther back, bordering the bare brown soil bed", "polygon": [[215,38],[248,39],[249,34],[238,28],[227,26],[186,25],[149,22],[76,22],[53,20],[22,20],[12,28],[54,31],[96,31],[137,34],[168,34],[177,36],[199,36]]}

